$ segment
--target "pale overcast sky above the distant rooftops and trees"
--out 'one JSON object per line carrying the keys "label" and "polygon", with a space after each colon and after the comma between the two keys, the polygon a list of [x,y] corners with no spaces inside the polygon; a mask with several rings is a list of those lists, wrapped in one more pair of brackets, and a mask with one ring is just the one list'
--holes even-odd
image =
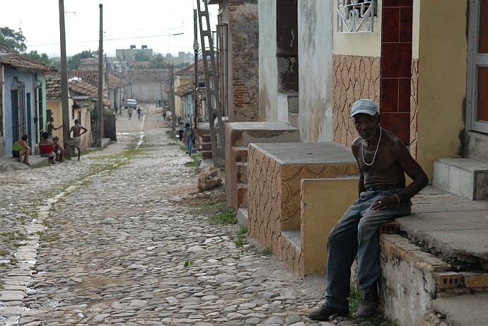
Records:
{"label": "pale overcast sky above the distant rooftops and trees", "polygon": [[[98,49],[103,5],[103,52],[147,45],[154,52],[193,52],[193,9],[197,0],[64,0],[66,54]],[[210,5],[215,30],[218,5]],[[27,52],[59,57],[59,0],[1,1],[1,27],[22,28]],[[182,33],[182,34],[180,34]],[[175,35],[180,34],[180,35]]]}

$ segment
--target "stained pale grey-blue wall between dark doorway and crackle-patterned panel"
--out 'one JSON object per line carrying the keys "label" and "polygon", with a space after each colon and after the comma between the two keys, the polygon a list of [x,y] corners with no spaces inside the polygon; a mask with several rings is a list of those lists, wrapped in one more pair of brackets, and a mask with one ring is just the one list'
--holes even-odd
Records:
{"label": "stained pale grey-blue wall between dark doorway and crackle-patterned panel", "polygon": [[302,141],[332,141],[332,2],[298,0],[298,127]]}

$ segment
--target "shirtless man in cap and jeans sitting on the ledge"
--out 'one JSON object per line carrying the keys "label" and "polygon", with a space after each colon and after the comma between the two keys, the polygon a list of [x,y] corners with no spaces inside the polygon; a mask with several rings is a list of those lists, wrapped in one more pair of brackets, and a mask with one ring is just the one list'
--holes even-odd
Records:
{"label": "shirtless man in cap and jeans sitting on the ledge", "polygon": [[[429,182],[422,167],[394,134],[380,126],[373,100],[358,100],[351,117],[359,137],[352,153],[359,165],[359,199],[344,213],[327,238],[327,286],[325,304],[310,312],[313,320],[349,315],[347,297],[351,266],[358,257],[357,277],[364,300],[356,317],[377,313],[380,279],[378,227],[410,214],[410,198]],[[405,173],[413,182],[405,187]]]}

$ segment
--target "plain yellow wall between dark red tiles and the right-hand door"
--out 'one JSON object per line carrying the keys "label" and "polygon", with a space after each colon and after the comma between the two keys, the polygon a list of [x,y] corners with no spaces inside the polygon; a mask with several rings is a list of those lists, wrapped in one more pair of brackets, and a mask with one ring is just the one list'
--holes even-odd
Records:
{"label": "plain yellow wall between dark red tiles and the right-hand door", "polygon": [[464,127],[467,1],[418,3],[414,9],[420,15],[417,161],[432,177],[435,158],[456,155]]}

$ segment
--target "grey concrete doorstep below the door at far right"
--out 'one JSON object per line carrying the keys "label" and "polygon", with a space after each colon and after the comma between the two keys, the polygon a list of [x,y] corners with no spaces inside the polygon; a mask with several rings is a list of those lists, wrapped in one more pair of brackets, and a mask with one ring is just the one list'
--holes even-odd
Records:
{"label": "grey concrete doorstep below the door at far right", "polygon": [[432,185],[472,200],[488,200],[488,163],[472,158],[438,158]]}

